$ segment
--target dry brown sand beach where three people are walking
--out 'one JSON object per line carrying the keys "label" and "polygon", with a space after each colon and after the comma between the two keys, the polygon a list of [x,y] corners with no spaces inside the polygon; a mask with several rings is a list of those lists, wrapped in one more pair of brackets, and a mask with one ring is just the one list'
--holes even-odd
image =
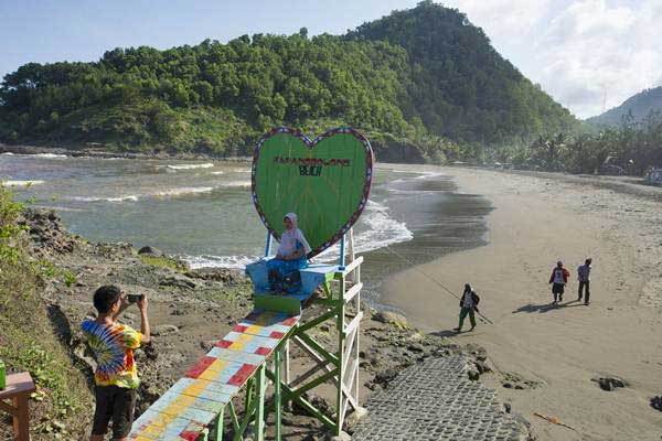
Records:
{"label": "dry brown sand beach where three people are walking", "polygon": [[[476,342],[493,373],[481,380],[528,419],[540,440],[658,440],[662,413],[662,189],[618,180],[425,168],[453,178],[460,192],[493,205],[488,245],[402,271],[382,301],[429,333]],[[591,304],[577,302],[577,267],[592,257]],[[556,260],[572,273],[564,301],[551,308]],[[457,336],[456,294],[471,282],[479,322]],[[468,329],[468,321],[465,324]],[[591,378],[615,376],[605,391]],[[504,383],[522,385],[503,387]],[[551,424],[556,417],[576,431]]]}

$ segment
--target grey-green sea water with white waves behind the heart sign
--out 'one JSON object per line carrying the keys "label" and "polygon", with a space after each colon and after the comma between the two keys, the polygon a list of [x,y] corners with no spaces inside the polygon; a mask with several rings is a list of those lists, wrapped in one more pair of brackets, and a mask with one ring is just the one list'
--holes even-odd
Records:
{"label": "grey-green sea water with white waves behind the heart sign", "polygon": [[[401,170],[404,169],[404,170]],[[354,226],[367,298],[385,276],[483,243],[489,203],[460,194],[442,173],[382,164]],[[17,198],[54,208],[90,240],[150,245],[193,268],[242,269],[264,252],[247,162],[0,154]],[[318,260],[338,258],[338,247]]]}

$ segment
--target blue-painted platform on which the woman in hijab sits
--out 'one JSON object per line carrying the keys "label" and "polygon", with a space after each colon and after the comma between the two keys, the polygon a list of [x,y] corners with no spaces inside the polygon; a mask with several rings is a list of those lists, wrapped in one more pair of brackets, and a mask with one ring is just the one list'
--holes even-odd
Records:
{"label": "blue-painted platform on which the woman in hijab sits", "polygon": [[[267,261],[269,261],[269,259],[260,259],[246,266],[246,276],[250,278],[255,286],[255,295],[273,294],[269,290]],[[303,302],[312,295],[320,284],[328,283],[332,280],[338,271],[340,271],[338,265],[310,263],[308,265],[308,268],[299,270],[301,273],[301,289],[287,297]]]}

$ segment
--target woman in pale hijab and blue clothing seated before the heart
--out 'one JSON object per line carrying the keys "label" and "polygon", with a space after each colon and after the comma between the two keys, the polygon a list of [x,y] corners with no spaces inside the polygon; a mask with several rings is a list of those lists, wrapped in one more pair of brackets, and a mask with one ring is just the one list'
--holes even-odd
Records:
{"label": "woman in pale hijab and blue clothing seated before the heart", "polygon": [[301,286],[299,270],[308,266],[306,256],[311,251],[303,233],[297,227],[297,215],[288,213],[282,218],[285,232],[276,257],[267,261],[269,284],[273,291],[293,293]]}

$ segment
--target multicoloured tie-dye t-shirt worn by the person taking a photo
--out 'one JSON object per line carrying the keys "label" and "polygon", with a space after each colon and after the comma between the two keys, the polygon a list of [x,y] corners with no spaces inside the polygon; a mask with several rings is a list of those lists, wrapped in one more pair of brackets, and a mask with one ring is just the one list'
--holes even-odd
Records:
{"label": "multicoloured tie-dye t-shirt worn by the person taking a photo", "polygon": [[86,320],[81,325],[87,344],[95,354],[97,386],[136,389],[140,385],[134,362],[134,349],[140,347],[142,334],[120,323],[97,323]]}

